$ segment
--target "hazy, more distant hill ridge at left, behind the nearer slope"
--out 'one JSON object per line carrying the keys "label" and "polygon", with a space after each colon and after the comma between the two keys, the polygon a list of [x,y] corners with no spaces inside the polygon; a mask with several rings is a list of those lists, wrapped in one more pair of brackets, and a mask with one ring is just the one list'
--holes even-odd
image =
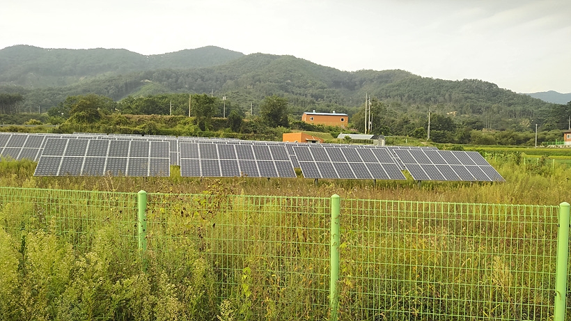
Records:
{"label": "hazy, more distant hill ridge at left, behind the nearer slope", "polygon": [[244,56],[219,47],[143,56],[125,49],[0,49],[0,85],[24,88],[68,86],[85,79],[164,68],[204,68]]}

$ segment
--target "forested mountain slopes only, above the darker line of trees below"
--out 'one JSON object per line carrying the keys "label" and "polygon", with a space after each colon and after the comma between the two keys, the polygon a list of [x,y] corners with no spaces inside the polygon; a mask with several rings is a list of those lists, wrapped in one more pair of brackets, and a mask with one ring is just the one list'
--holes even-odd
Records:
{"label": "forested mountain slopes only, above the darker line of trees below", "polygon": [[[33,47],[10,47],[0,52],[0,59],[6,61],[10,51],[17,49],[29,52],[49,51]],[[558,105],[478,79],[432,79],[404,70],[345,72],[294,56],[244,56],[217,47],[160,56],[141,56],[126,50],[111,49],[58,50],[54,49],[61,54],[60,58],[57,58],[57,54],[42,57],[45,62],[52,59],[60,64],[67,63],[68,71],[54,68],[55,63],[34,61],[30,54],[28,58],[13,57],[14,61],[22,62],[19,65],[9,63],[6,66],[5,62],[1,63],[0,79],[19,79],[18,81],[25,82],[41,70],[41,75],[49,75],[57,84],[73,82],[72,79],[83,80],[68,86],[35,86],[33,89],[15,86],[19,83],[16,80],[10,81],[9,85],[5,81],[3,86],[0,85],[0,93],[22,94],[24,101],[20,110],[23,111],[38,110],[38,106],[40,110],[47,111],[68,96],[88,93],[104,95],[116,101],[128,96],[213,93],[217,97],[225,95],[226,103],[244,111],[249,111],[253,105],[254,113],[264,97],[280,95],[290,102],[290,110],[295,118],[303,111],[312,109],[347,112],[352,117],[362,109],[368,93],[373,100],[382,102],[391,116],[405,114],[410,118],[425,118],[430,109],[432,113],[455,117],[460,123],[478,121],[483,127],[500,130],[531,130],[535,123],[548,124],[550,128],[566,127],[570,114],[566,110],[557,111],[555,107]],[[100,51],[107,54],[112,52],[113,55],[101,58]],[[86,58],[89,55],[97,58]],[[112,56],[116,58],[111,58]],[[45,68],[42,65],[46,65]],[[102,72],[103,70],[108,71]]]}

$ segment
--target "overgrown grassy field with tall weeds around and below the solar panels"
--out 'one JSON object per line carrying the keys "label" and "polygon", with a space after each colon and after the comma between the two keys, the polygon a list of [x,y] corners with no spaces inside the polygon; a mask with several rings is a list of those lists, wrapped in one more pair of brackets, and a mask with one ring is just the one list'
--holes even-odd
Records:
{"label": "overgrown grassy field with tall weeds around and below the solar panels", "polygon": [[[494,204],[570,202],[571,169],[489,153],[506,182],[35,178],[3,160],[1,186],[33,189],[1,199],[0,320],[327,320],[332,194],[340,320],[549,320],[556,215]],[[140,189],[159,193],[146,256]]]}

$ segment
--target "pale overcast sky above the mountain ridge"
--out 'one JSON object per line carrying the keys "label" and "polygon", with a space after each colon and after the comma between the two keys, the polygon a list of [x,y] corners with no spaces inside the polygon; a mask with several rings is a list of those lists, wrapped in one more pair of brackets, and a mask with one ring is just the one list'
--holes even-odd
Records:
{"label": "pale overcast sky above the mountain ridge", "polygon": [[571,93],[570,0],[3,0],[0,48],[214,45]]}

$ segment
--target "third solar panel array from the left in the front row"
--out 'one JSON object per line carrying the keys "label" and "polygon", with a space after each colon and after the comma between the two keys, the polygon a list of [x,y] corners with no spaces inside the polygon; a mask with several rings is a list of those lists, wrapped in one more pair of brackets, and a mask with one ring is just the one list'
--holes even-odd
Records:
{"label": "third solar panel array from the left in the front row", "polygon": [[406,180],[386,148],[293,146],[305,178]]}

